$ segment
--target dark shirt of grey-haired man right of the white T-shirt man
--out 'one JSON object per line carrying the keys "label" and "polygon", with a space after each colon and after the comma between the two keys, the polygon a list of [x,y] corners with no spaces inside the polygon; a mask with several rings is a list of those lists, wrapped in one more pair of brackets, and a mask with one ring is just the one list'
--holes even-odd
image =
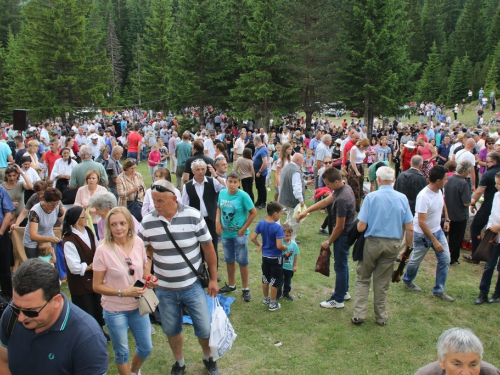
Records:
{"label": "dark shirt of grey-haired man right of the white T-shirt man", "polygon": [[463,177],[453,175],[448,178],[444,187],[444,201],[451,221],[465,221],[469,218],[469,207],[464,206],[471,202],[469,184]]}

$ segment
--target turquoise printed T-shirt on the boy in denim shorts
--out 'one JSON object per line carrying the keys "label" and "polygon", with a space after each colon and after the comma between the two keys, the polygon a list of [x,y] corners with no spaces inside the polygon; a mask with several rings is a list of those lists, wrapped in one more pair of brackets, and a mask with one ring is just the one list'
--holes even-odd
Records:
{"label": "turquoise printed T-shirt on the boy in denim shorts", "polygon": [[[250,196],[243,190],[238,190],[236,194],[229,194],[227,189],[219,193],[220,221],[222,224],[222,238],[238,237],[238,231],[245,224],[248,211],[254,208]],[[249,230],[245,231],[248,234]]]}

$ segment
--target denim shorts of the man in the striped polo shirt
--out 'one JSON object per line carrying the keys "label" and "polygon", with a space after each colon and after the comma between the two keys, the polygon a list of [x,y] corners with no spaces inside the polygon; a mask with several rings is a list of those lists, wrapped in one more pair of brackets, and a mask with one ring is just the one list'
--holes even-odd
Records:
{"label": "denim shorts of the man in the striped polo shirt", "polygon": [[186,306],[193,320],[194,334],[201,338],[210,337],[210,312],[207,296],[199,281],[187,288],[171,291],[156,288],[160,300],[161,326],[167,336],[177,336],[182,332],[182,305]]}

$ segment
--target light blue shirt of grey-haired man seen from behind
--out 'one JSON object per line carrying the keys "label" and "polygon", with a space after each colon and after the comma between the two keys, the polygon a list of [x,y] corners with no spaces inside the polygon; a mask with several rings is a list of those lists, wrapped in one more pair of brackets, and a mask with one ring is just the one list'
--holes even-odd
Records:
{"label": "light blue shirt of grey-haired man seen from behind", "polygon": [[392,186],[383,185],[366,196],[358,219],[368,225],[365,237],[401,239],[403,224],[411,223],[413,215],[408,198]]}

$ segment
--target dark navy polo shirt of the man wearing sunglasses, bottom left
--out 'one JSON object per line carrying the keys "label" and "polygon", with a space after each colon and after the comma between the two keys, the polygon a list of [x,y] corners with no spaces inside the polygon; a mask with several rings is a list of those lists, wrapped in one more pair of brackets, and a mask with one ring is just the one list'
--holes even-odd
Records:
{"label": "dark navy polo shirt of the man wearing sunglasses, bottom left", "polygon": [[7,337],[11,309],[5,309],[0,322],[0,343],[8,350],[12,375],[107,372],[107,341],[101,327],[92,316],[63,297],[61,315],[49,329],[38,335],[17,321]]}

